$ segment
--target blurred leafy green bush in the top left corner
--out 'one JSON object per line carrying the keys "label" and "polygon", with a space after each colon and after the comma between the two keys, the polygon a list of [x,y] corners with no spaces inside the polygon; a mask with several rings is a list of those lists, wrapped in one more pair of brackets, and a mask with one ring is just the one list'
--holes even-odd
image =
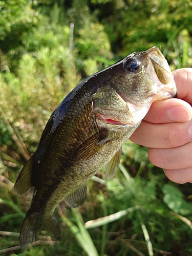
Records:
{"label": "blurred leafy green bush in the top left corner", "polygon": [[1,49],[12,59],[11,65],[16,65],[14,58],[29,48],[27,39],[33,35],[40,16],[27,0],[2,0],[0,10]]}

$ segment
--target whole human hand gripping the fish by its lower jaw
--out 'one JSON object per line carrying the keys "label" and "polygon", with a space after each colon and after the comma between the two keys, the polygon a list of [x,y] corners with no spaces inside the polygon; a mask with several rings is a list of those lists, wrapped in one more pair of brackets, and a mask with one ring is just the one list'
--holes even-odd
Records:
{"label": "whole human hand gripping the fish by its lower jaw", "polygon": [[177,98],[155,101],[131,136],[168,179],[192,183],[192,68],[172,72]]}

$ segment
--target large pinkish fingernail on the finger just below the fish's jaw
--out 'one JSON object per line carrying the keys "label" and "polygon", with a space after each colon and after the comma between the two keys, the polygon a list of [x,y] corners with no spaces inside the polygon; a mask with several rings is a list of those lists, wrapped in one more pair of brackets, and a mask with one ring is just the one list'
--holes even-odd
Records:
{"label": "large pinkish fingernail on the finger just below the fish's jaw", "polygon": [[191,110],[182,105],[175,105],[167,112],[170,121],[187,122],[192,118]]}

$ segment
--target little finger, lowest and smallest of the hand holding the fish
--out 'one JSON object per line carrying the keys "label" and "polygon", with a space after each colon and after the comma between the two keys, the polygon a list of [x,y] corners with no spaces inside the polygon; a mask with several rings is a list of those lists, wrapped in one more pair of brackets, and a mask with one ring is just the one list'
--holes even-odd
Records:
{"label": "little finger, lowest and smallest of the hand holding the fish", "polygon": [[183,169],[163,169],[167,178],[176,183],[192,183],[192,166]]}

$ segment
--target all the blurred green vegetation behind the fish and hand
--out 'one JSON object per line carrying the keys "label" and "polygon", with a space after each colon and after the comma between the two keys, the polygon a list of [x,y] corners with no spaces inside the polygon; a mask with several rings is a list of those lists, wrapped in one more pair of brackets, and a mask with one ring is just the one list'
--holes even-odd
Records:
{"label": "all the blurred green vegetation behind the fish and hand", "polygon": [[114,178],[103,169],[89,182],[83,206],[59,204],[59,240],[41,231],[20,249],[32,191],[13,192],[51,113],[87,76],[153,46],[172,70],[191,67],[191,13],[191,0],[0,1],[1,255],[192,255],[191,186],[168,181],[130,141]]}

